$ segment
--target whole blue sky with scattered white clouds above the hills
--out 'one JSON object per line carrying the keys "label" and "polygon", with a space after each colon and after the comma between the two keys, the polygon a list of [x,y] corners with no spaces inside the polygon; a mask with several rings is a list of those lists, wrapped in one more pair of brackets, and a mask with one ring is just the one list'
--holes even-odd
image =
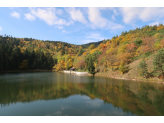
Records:
{"label": "whole blue sky with scattered white clouds above the hills", "polygon": [[0,7],[0,35],[86,44],[164,24],[164,7]]}

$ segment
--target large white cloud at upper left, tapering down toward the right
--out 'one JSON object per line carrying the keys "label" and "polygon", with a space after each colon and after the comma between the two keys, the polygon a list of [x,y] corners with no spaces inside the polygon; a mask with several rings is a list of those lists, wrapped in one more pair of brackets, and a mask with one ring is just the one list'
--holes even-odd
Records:
{"label": "large white cloud at upper left, tapering down toward the right", "polygon": [[56,8],[29,8],[30,14],[32,14],[35,17],[38,17],[39,19],[45,21],[48,25],[66,25],[69,26],[73,22],[67,22],[64,19],[59,19],[56,14],[62,14],[61,9]]}

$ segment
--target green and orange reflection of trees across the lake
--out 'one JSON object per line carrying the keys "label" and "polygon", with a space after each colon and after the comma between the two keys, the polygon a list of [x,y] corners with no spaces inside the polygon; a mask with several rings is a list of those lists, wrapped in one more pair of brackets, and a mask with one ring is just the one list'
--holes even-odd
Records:
{"label": "green and orange reflection of trees across the lake", "polygon": [[[135,93],[133,86],[125,83],[94,82],[88,83],[33,83],[29,85],[1,83],[1,106],[16,102],[31,102],[35,100],[54,100],[67,98],[71,95],[87,95],[91,99],[99,98],[104,103],[122,108],[124,112],[137,115],[164,115],[164,88],[139,83]],[[13,87],[14,86],[14,87]],[[3,88],[2,88],[3,87]],[[130,88],[131,87],[131,88]],[[136,88],[134,86],[134,88]],[[137,91],[137,92],[136,92]]]}

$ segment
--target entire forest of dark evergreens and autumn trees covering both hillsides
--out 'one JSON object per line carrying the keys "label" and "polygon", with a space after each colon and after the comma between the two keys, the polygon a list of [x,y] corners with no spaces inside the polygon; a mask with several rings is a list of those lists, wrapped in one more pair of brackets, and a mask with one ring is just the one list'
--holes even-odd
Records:
{"label": "entire forest of dark evergreens and autumn trees covering both hillsides", "polygon": [[[154,55],[153,70],[146,59]],[[125,74],[128,65],[140,60],[138,75],[164,78],[164,26],[148,26],[122,32],[112,39],[83,45],[61,41],[0,36],[0,71],[27,69],[68,70],[75,67],[90,73],[119,71]]]}

